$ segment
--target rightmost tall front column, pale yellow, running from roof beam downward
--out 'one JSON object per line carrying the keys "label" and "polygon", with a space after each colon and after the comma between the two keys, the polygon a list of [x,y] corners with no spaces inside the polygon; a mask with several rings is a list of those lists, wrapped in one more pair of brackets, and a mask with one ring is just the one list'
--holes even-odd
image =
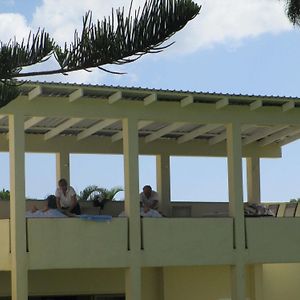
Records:
{"label": "rightmost tall front column, pale yellow, running from roof beam downward", "polygon": [[232,300],[246,299],[245,223],[243,204],[242,143],[240,124],[227,125],[229,213],[234,219],[235,264],[231,267]]}

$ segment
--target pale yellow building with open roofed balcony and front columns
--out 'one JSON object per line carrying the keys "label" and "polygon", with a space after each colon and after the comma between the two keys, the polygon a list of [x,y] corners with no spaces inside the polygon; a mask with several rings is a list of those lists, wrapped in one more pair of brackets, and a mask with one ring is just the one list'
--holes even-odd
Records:
{"label": "pale yellow building with open roofed balcony and front columns", "polygon": [[[3,299],[299,299],[300,218],[244,218],[242,183],[246,157],[248,201],[259,203],[259,159],[280,158],[300,137],[299,99],[38,82],[20,90],[0,109],[11,184]],[[128,217],[26,220],[25,152],[56,153],[57,178],[67,179],[70,153],[123,154]],[[140,219],[139,154],[156,156],[166,218]],[[227,216],[170,201],[170,156],[227,157]]]}

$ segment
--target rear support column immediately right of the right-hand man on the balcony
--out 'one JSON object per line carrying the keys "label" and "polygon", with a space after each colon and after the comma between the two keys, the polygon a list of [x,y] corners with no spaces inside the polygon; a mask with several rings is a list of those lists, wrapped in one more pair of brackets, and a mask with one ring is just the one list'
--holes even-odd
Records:
{"label": "rear support column immediately right of the right-hand man on the balcony", "polygon": [[170,155],[156,155],[156,182],[161,197],[159,210],[168,216],[171,202]]}

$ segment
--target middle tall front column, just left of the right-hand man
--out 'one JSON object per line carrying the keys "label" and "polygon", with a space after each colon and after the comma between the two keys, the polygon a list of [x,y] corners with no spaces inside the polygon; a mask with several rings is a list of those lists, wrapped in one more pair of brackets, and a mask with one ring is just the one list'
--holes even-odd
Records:
{"label": "middle tall front column, just left of the right-hand man", "polygon": [[125,213],[128,216],[130,267],[125,272],[126,300],[141,299],[141,220],[139,201],[138,120],[123,119]]}

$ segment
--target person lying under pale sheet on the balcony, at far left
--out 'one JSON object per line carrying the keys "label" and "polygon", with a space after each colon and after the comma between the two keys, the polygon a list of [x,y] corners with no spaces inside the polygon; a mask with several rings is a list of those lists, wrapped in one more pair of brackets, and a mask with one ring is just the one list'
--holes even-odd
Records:
{"label": "person lying under pale sheet on the balcony, at far left", "polygon": [[33,206],[31,211],[26,212],[26,218],[66,218],[66,215],[57,209],[54,195],[48,196],[46,201],[46,206],[43,209],[37,209],[36,206]]}

